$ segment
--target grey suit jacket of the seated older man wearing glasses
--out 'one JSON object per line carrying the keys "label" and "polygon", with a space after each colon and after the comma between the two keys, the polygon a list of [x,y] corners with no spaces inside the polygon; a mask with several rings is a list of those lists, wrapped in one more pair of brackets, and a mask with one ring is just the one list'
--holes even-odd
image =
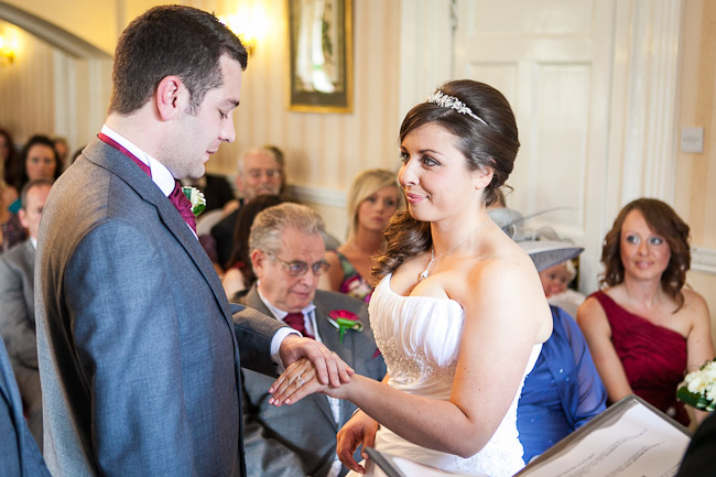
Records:
{"label": "grey suit jacket of the seated older man wearing glasses", "polygon": [[[270,314],[256,285],[240,299],[240,303]],[[368,321],[366,305],[350,296],[318,290],[313,301],[316,325],[324,345],[335,351],[357,373],[380,380],[386,364],[376,355],[376,343]],[[356,313],[365,324],[362,333],[349,330],[339,343],[338,332],[326,317],[334,310]],[[356,406],[340,401],[340,420],[334,421],[328,399],[312,394],[292,405],[269,405],[268,393],[272,380],[252,371],[242,371],[245,394],[245,445],[249,476],[324,477],[336,456],[336,434],[350,419]],[[340,475],[345,475],[344,467]]]}

